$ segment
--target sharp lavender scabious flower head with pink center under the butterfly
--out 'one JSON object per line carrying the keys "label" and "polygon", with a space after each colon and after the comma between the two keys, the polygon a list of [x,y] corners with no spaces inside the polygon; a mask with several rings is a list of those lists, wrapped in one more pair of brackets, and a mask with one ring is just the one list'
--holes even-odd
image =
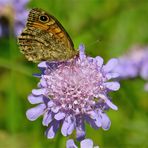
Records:
{"label": "sharp lavender scabious flower head with pink center under the butterfly", "polygon": [[61,125],[64,136],[76,130],[76,139],[85,138],[85,122],[91,127],[108,130],[110,120],[105,111],[117,110],[108,93],[119,89],[118,82],[112,82],[118,74],[111,72],[117,64],[111,59],[103,65],[99,56],[92,58],[79,47],[79,56],[66,62],[42,62],[38,89],[33,89],[28,97],[31,104],[39,104],[27,111],[31,121],[43,115],[43,125],[47,126],[46,135],[54,138]]}

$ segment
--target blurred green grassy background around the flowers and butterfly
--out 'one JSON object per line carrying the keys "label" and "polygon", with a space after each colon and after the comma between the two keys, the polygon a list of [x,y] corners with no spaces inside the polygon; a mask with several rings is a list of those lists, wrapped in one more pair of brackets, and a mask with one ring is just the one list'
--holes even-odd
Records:
{"label": "blurred green grassy background around the flowers and butterfly", "polygon": [[[32,0],[28,8],[39,7],[54,15],[73,39],[75,48],[86,46],[87,54],[105,61],[124,54],[132,45],[148,44],[147,0]],[[19,52],[16,39],[0,38],[0,148],[64,148],[66,138],[58,131],[53,140],[44,136],[42,118],[27,120],[32,105],[27,100],[39,81],[36,64]],[[140,78],[123,80],[111,94],[118,111],[107,114],[108,131],[87,126],[87,137],[100,148],[148,147],[148,92]]]}

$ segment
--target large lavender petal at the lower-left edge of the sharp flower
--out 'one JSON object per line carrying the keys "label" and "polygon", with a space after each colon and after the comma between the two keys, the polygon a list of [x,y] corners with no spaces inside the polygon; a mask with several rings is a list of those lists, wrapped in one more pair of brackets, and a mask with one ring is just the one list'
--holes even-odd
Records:
{"label": "large lavender petal at the lower-left edge of the sharp flower", "polygon": [[46,108],[45,104],[40,104],[34,108],[27,110],[26,116],[30,121],[34,121],[44,113],[45,108]]}

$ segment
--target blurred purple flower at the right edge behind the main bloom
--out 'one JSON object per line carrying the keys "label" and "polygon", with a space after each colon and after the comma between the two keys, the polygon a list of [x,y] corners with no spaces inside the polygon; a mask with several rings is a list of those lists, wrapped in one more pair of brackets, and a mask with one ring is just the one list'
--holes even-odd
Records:
{"label": "blurred purple flower at the right edge behind the main bloom", "polygon": [[[140,76],[148,80],[148,48],[133,47],[126,55],[121,56],[114,72],[119,73],[120,79]],[[147,84],[145,85],[147,89]]]}

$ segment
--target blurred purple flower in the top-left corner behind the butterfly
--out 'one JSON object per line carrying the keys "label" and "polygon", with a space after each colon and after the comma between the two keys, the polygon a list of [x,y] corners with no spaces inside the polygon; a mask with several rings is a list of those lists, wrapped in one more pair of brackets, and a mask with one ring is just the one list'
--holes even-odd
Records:
{"label": "blurred purple flower in the top-left corner behind the butterfly", "polygon": [[11,31],[16,36],[21,33],[28,16],[27,3],[28,0],[0,0],[0,37]]}

